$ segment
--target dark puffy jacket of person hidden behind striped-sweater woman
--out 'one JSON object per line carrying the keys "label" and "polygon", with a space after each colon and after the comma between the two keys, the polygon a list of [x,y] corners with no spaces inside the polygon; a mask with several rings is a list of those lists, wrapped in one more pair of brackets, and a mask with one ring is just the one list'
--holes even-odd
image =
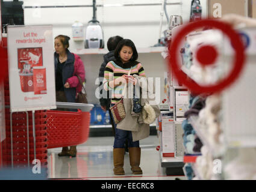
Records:
{"label": "dark puffy jacket of person hidden behind striped-sweater woman", "polygon": [[[99,84],[99,86],[102,85],[103,82],[103,78],[104,78],[104,71],[105,71],[105,67],[108,64],[108,62],[113,61],[114,58],[114,51],[112,50],[111,52],[108,52],[107,54],[104,55],[104,61],[101,64],[101,68],[99,68],[99,77],[102,77],[101,83]],[[102,92],[104,91],[104,92]],[[107,94],[108,98],[100,98],[99,102],[101,103],[101,106],[106,106],[107,110],[110,108],[110,104],[111,104],[111,92],[108,91],[106,92],[105,90],[103,90],[103,88],[100,91],[101,94]]]}

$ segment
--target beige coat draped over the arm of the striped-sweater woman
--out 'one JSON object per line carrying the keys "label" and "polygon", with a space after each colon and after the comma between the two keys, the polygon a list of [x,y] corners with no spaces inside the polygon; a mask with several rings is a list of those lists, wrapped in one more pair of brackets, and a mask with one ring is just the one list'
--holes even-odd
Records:
{"label": "beige coat draped over the arm of the striped-sweater woman", "polygon": [[[136,77],[137,80],[139,80],[140,82],[143,82],[143,83],[140,83],[141,88],[143,88],[143,86],[148,86],[148,79],[146,77],[137,76],[137,75],[134,75],[134,77]],[[148,137],[150,133],[150,127],[149,127],[149,124],[145,124],[143,122],[142,112],[140,113],[132,112],[133,99],[128,98],[128,93],[129,91],[131,91],[131,89],[129,91],[127,90],[129,90],[128,85],[126,86],[126,92],[125,92],[126,97],[123,98],[123,106],[125,107],[126,115],[125,115],[125,118],[117,124],[116,128],[119,128],[120,130],[132,131],[133,142],[135,142],[137,140],[145,139],[146,137]],[[141,90],[145,90],[145,89],[141,89]],[[143,92],[141,91],[140,98],[141,98],[141,105],[143,107],[145,106],[146,103],[149,103],[149,97],[142,98],[142,94]],[[146,89],[146,92],[144,92],[144,94],[149,96],[149,95],[155,94],[155,92],[149,92]],[[160,115],[160,109],[158,105],[157,104],[151,105],[151,107],[153,107],[156,118],[157,118]]]}

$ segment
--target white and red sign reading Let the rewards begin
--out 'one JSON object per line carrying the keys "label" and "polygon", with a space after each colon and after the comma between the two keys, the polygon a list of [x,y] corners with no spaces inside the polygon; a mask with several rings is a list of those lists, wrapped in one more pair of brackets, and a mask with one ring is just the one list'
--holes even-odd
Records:
{"label": "white and red sign reading Let the rewards begin", "polygon": [[11,112],[55,109],[52,26],[9,26]]}

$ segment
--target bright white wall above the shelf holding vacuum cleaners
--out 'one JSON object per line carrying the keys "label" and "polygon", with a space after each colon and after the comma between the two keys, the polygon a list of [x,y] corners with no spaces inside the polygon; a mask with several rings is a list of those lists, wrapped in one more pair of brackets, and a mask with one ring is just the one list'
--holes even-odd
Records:
{"label": "bright white wall above the shelf holding vacuum cleaners", "polygon": [[[54,5],[92,5],[92,0],[23,0],[24,7],[54,6]],[[98,5],[108,4],[152,4],[161,3],[161,0],[101,0],[96,1]],[[172,0],[167,3],[182,2],[183,5],[167,5],[170,15],[182,15],[185,21],[189,20],[190,0]],[[201,0],[206,11],[206,0]],[[97,19],[104,30],[104,40],[109,37],[120,35],[130,38],[137,47],[154,46],[157,43],[160,29],[161,5],[153,6],[131,6],[131,7],[98,7]],[[25,8],[25,25],[52,24],[54,26],[54,37],[65,34],[72,37],[72,24],[79,20],[86,28],[87,23],[92,20],[92,7],[77,8]],[[166,17],[163,19],[163,30],[167,29]],[[105,44],[106,45],[106,44]],[[70,42],[70,49],[81,49],[83,43]]]}

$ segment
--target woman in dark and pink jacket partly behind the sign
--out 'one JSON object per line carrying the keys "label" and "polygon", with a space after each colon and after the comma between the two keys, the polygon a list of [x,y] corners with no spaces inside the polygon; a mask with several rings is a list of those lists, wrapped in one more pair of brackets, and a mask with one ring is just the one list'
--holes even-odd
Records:
{"label": "woman in dark and pink jacket partly behind the sign", "polygon": [[[76,95],[82,89],[77,76],[84,80],[85,71],[81,58],[69,52],[69,39],[66,35],[58,35],[54,39],[56,101],[75,103]],[[58,156],[76,157],[76,146],[70,146],[70,150],[63,147]]]}

